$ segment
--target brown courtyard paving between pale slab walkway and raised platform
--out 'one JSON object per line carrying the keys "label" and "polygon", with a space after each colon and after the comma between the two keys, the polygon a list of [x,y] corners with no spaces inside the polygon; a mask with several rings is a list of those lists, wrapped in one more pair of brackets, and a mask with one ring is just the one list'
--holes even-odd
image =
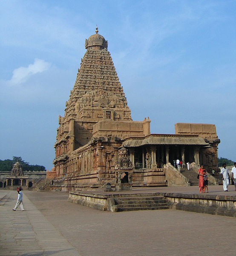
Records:
{"label": "brown courtyard paving between pale slab walkway and raised platform", "polygon": [[235,218],[172,209],[102,212],[69,203],[65,192],[25,193],[83,256],[235,255]]}

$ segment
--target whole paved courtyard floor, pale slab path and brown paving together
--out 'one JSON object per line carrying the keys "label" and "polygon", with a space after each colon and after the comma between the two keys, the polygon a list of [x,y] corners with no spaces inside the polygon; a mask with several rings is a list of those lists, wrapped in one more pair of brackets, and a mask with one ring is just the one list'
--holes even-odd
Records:
{"label": "whole paved courtyard floor, pale slab path and brown paving together", "polygon": [[[221,194],[221,188],[209,190]],[[233,186],[229,190],[222,194],[236,193]],[[23,191],[26,211],[19,207],[13,212],[17,192],[0,190],[0,256],[235,255],[235,218],[178,210],[101,212],[69,203],[67,197],[64,192]]]}

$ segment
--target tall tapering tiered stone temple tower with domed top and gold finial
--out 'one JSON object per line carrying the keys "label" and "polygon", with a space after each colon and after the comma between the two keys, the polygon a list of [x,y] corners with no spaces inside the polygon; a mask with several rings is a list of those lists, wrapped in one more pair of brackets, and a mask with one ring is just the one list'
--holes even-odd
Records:
{"label": "tall tapering tiered stone temple tower with domed top and gold finial", "polygon": [[[94,124],[101,120],[131,121],[131,111],[107,50],[107,41],[98,34],[85,40],[86,53],[66,101],[65,115],[59,116],[55,143],[55,167],[65,165],[68,154],[87,144]],[[63,167],[65,170],[65,166]]]}

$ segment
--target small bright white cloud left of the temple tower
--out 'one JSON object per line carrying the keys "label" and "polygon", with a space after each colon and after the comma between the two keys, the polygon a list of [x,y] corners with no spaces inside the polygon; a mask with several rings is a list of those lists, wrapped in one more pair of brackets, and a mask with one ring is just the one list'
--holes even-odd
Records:
{"label": "small bright white cloud left of the temple tower", "polygon": [[27,68],[20,67],[13,71],[12,79],[9,81],[10,85],[19,85],[29,79],[34,74],[41,73],[51,67],[49,62],[43,59],[35,59],[33,64],[29,64]]}

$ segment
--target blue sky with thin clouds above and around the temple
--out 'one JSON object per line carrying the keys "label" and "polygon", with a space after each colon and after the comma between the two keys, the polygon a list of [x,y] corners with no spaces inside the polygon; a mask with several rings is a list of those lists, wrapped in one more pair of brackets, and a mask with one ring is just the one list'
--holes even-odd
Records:
{"label": "blue sky with thin clouds above and around the temple", "polygon": [[108,41],[133,120],[216,124],[236,161],[236,0],[1,0],[0,159],[53,167],[85,38]]}

